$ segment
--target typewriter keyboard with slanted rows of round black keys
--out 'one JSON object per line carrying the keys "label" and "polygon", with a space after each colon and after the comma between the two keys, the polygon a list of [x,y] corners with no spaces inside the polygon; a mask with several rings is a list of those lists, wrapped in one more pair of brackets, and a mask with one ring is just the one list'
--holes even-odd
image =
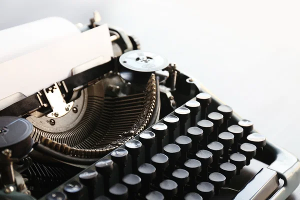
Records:
{"label": "typewriter keyboard with slanted rows of round black keys", "polygon": [[[266,138],[251,121],[232,120],[230,106],[211,102],[210,94],[197,94],[43,199],[242,199],[255,175],[244,174],[259,162],[253,158]],[[278,178],[267,170],[260,172],[275,177],[275,189]]]}

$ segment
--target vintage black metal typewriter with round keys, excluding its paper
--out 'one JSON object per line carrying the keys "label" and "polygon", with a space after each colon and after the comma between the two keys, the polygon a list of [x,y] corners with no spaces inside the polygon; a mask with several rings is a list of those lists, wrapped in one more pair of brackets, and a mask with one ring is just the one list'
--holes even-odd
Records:
{"label": "vintage black metal typewriter with round keys, excluding its paper", "polygon": [[[96,17],[82,32],[101,27]],[[300,162],[162,55],[114,56],[0,100],[0,199],[285,199]],[[11,101],[11,102],[10,102]]]}

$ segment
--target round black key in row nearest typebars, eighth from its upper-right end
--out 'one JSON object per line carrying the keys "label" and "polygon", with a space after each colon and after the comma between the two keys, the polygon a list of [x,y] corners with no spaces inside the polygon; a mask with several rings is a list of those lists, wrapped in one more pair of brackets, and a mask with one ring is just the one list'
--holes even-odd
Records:
{"label": "round black key in row nearest typebars, eighth from its upper-right end", "polygon": [[128,151],[124,148],[118,148],[110,153],[111,159],[118,166],[118,176],[119,181],[122,181],[122,177],[124,176],[124,168],[127,164],[128,160]]}

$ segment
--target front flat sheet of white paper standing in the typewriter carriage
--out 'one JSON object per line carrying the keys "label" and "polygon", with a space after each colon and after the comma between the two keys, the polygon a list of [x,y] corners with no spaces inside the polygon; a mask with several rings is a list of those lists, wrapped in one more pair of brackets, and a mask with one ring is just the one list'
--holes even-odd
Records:
{"label": "front flat sheet of white paper standing in the typewriter carriage", "polygon": [[68,77],[73,67],[80,72],[109,61],[109,36],[105,24],[1,63],[0,99],[15,92],[31,95]]}

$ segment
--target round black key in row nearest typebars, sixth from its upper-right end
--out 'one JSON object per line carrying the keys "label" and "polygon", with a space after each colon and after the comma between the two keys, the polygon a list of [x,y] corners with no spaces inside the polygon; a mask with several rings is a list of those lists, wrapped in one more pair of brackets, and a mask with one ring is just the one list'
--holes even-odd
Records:
{"label": "round black key in row nearest typebars, sixth from its upper-right end", "polygon": [[150,163],[151,160],[151,147],[155,142],[155,133],[145,130],[139,134],[139,141],[145,146],[145,162]]}

